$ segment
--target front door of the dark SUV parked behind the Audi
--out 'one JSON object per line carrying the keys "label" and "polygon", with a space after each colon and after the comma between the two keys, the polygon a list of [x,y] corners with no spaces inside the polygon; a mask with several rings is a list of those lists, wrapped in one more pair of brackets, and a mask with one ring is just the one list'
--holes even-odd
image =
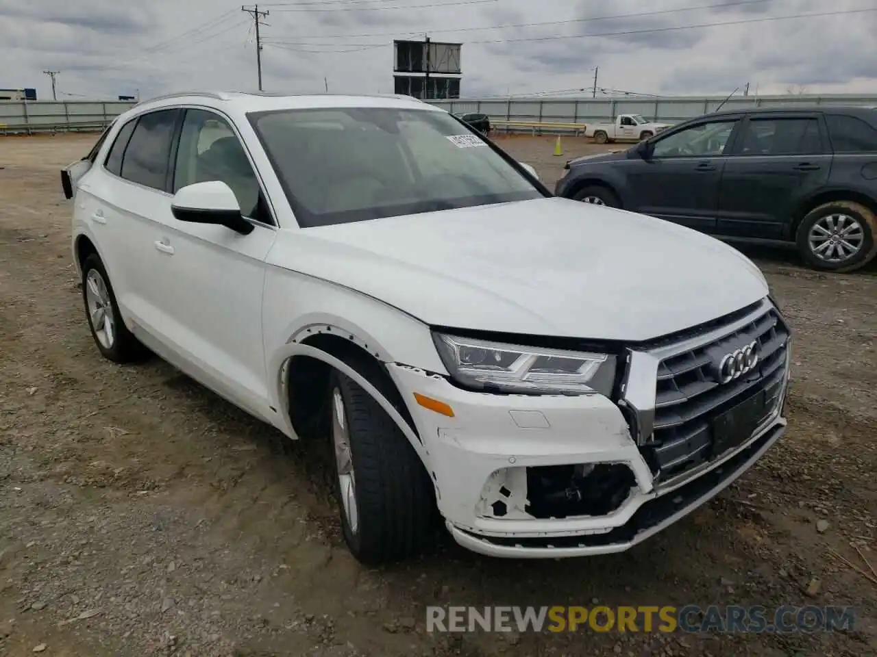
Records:
{"label": "front door of the dark SUV parked behind the Audi", "polygon": [[738,117],[708,119],[652,138],[647,159],[630,168],[630,209],[715,232],[719,185],[738,124]]}

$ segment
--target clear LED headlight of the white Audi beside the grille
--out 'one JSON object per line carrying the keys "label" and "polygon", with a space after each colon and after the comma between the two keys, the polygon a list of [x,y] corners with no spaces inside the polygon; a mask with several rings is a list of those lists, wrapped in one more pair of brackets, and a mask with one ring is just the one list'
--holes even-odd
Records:
{"label": "clear LED headlight of the white Audi beside the grille", "polygon": [[433,333],[432,338],[453,379],[475,390],[609,397],[615,382],[612,354],[490,343],[444,333]]}

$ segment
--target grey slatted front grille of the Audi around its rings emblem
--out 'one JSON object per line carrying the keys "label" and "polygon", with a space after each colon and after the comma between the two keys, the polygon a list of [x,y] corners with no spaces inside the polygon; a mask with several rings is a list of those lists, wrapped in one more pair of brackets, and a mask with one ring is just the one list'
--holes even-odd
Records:
{"label": "grey slatted front grille of the Audi around its rings emblem", "polygon": [[[660,361],[653,434],[642,448],[647,462],[658,470],[656,480],[676,477],[721,456],[717,418],[753,395],[763,392],[765,397],[763,414],[755,419],[758,425],[774,413],[781,402],[788,338],[788,328],[771,306],[716,340]],[[759,362],[740,378],[721,383],[721,358],[752,341],[759,345]],[[745,430],[741,426],[740,431]],[[744,441],[748,437],[740,436]]]}

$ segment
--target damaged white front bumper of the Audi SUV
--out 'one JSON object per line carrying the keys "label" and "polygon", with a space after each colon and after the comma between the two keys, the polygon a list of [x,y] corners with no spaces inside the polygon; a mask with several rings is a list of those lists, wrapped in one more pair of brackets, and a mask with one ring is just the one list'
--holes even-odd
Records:
{"label": "damaged white front bumper of the Audi SUV", "polygon": [[[735,449],[662,479],[602,395],[496,395],[399,364],[389,371],[423,442],[439,511],[465,548],[499,557],[621,552],[660,532],[739,477],[786,427],[782,399]],[[453,417],[413,403],[417,392]]]}

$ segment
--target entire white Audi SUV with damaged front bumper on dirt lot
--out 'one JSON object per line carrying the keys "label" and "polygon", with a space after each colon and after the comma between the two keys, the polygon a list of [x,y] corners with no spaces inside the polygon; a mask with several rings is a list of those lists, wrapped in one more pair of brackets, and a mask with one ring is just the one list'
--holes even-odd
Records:
{"label": "entire white Audi SUV with damaged front bumper on dirt lot", "polygon": [[631,548],[786,426],[755,265],[555,198],[424,102],[165,96],[61,180],[97,349],[331,443],[362,562],[416,552],[436,510],[486,555]]}

